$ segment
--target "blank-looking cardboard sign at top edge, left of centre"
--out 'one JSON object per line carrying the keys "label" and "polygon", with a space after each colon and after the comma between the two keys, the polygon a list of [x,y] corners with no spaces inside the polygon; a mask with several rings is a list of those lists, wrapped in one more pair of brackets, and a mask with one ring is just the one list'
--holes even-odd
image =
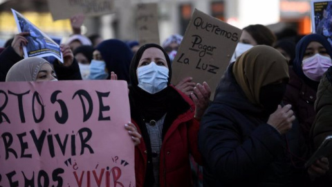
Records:
{"label": "blank-looking cardboard sign at top edge, left of centre", "polygon": [[73,1],[48,0],[48,8],[53,20],[69,19],[73,15],[100,16],[110,14],[113,10],[113,0]]}

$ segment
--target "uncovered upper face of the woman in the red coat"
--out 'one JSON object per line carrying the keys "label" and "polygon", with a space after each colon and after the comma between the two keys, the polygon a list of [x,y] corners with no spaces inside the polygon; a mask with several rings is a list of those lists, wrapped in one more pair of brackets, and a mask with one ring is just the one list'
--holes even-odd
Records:
{"label": "uncovered upper face of the woman in the red coat", "polygon": [[147,66],[151,62],[155,62],[158,66],[165,66],[168,69],[166,57],[159,48],[151,47],[147,48],[142,57],[140,57],[140,62],[138,62],[137,68],[140,66]]}

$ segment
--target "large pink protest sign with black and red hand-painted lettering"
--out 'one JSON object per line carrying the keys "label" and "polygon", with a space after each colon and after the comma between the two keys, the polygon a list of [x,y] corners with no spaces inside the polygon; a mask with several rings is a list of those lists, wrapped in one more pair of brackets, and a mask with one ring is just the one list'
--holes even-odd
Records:
{"label": "large pink protest sign with black and red hand-painted lettering", "polygon": [[0,186],[135,186],[127,82],[0,82]]}

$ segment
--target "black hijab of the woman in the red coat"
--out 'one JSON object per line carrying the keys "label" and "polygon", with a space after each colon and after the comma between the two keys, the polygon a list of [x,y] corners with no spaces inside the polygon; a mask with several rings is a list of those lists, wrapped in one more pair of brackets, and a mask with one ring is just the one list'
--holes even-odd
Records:
{"label": "black hijab of the woman in the red coat", "polygon": [[[147,48],[152,47],[158,48],[160,49],[160,51],[163,51],[169,68],[167,87],[156,94],[149,94],[147,93],[147,91],[144,91],[143,89],[138,87],[138,78],[136,73],[138,62],[140,62],[142,54],[145,50],[147,50]],[[163,115],[167,112],[167,96],[169,95],[169,89],[171,89],[169,87],[169,84],[172,78],[171,67],[171,61],[169,60],[167,53],[161,46],[157,44],[145,44],[141,46],[131,60],[129,68],[129,79],[131,82],[131,85],[129,87],[129,98],[131,98],[131,107],[135,106],[138,109],[138,111],[134,110],[132,112],[140,112],[140,116],[142,116],[145,121],[150,121],[152,119],[158,121],[158,119],[163,117]],[[132,116],[135,115],[132,114]]]}

